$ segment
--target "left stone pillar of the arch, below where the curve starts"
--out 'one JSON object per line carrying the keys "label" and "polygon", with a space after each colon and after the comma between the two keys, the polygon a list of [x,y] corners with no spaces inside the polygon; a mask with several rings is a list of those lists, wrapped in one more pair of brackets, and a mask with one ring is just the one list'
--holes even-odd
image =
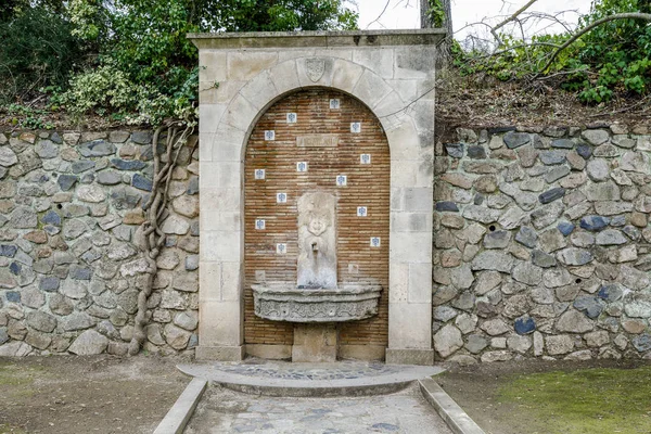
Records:
{"label": "left stone pillar of the arch, below where the curve starts", "polygon": [[244,357],[244,232],[241,162],[200,165],[200,292],[197,359]]}

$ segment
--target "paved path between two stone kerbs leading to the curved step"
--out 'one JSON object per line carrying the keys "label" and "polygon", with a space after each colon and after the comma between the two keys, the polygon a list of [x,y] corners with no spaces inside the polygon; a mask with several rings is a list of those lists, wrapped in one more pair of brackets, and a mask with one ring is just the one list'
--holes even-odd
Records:
{"label": "paved path between two stone kerbs leading to the curved step", "polygon": [[282,398],[213,386],[186,434],[451,434],[417,386],[380,396]]}

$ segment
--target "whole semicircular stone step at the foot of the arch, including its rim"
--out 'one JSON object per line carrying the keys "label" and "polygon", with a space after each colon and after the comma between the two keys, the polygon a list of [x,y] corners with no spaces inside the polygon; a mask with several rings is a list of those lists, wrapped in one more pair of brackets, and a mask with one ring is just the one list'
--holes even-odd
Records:
{"label": "whole semicircular stone step at the foot of the arch, including its rim", "polygon": [[441,367],[337,361],[298,363],[247,359],[243,363],[181,363],[195,378],[244,393],[267,396],[361,396],[399,391],[444,371]]}

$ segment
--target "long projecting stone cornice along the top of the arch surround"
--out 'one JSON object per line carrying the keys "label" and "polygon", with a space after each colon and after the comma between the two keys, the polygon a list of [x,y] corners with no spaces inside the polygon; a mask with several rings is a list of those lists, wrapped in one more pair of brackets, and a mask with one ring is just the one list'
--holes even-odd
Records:
{"label": "long projecting stone cornice along the top of the arch surround", "polygon": [[346,31],[250,31],[188,34],[199,49],[382,47],[435,44],[443,28]]}

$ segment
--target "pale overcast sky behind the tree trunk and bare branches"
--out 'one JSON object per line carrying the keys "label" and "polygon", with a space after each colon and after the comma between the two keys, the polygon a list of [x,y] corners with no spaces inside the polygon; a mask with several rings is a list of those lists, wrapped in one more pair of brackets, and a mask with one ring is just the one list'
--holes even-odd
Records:
{"label": "pale overcast sky behind the tree trunk and bare branches", "polygon": [[[359,8],[359,27],[365,28],[419,28],[419,0],[390,0],[386,12],[381,14],[386,0],[356,0]],[[485,17],[506,16],[515,12],[525,0],[451,0],[452,25],[455,31],[470,23],[482,21]],[[560,11],[578,11],[585,13],[590,9],[590,0],[538,0],[529,11],[557,13]],[[577,14],[567,13],[564,20],[576,23]],[[494,21],[495,22],[495,21]],[[467,30],[455,35],[463,38]]]}

